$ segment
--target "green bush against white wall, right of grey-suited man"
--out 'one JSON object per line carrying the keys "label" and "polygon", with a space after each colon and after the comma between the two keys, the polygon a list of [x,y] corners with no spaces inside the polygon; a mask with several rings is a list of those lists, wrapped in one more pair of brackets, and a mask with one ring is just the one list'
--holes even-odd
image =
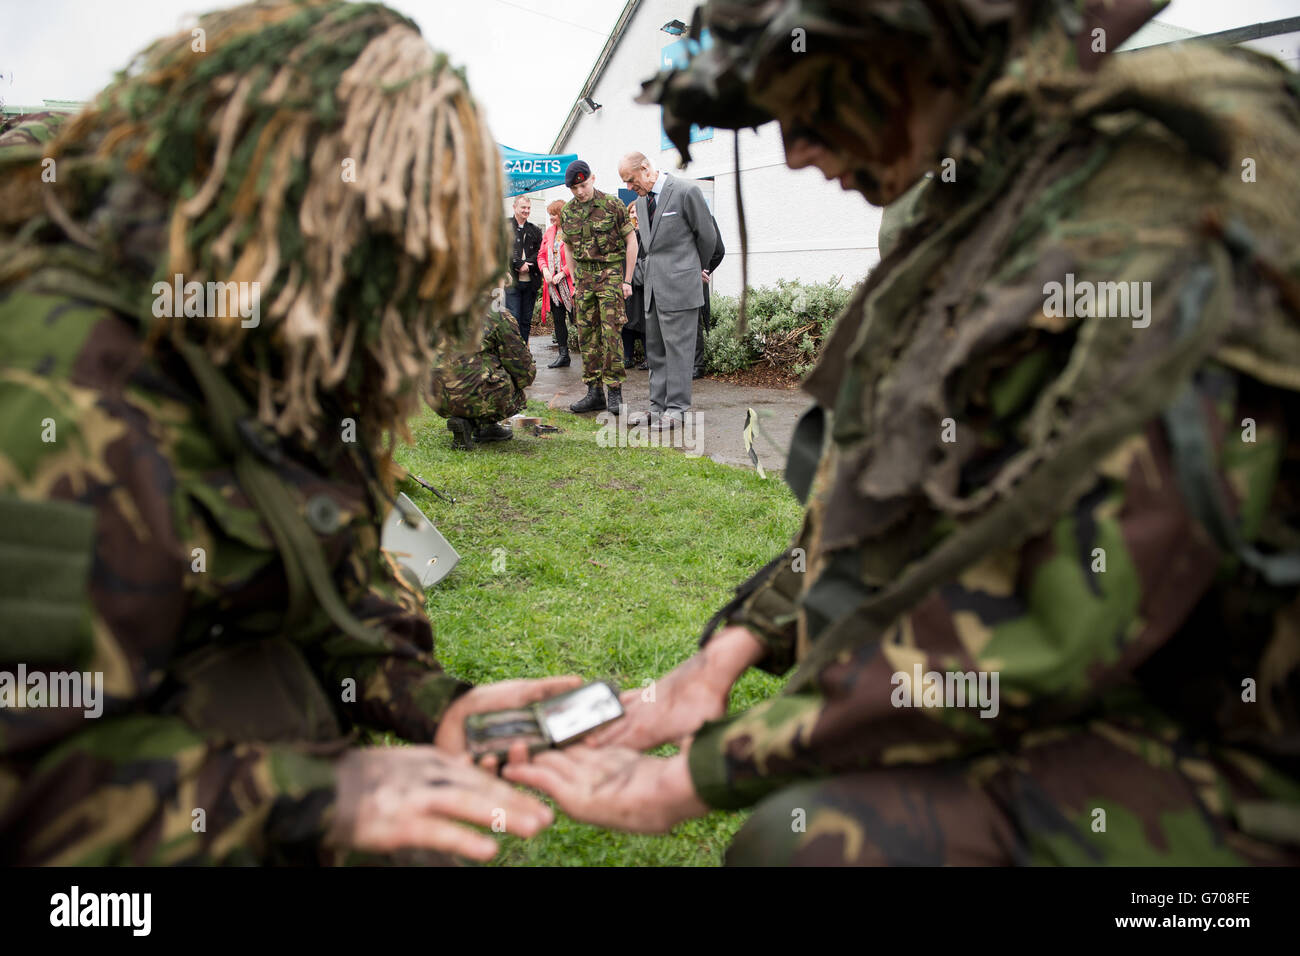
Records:
{"label": "green bush against white wall, right of grey-suited man", "polygon": [[749,329],[737,329],[740,300],[712,297],[714,328],[705,334],[705,364],[710,372],[738,372],[763,363],[802,378],[816,363],[836,319],[849,304],[852,289],[840,278],[828,282],[779,280],[775,286],[749,290]]}

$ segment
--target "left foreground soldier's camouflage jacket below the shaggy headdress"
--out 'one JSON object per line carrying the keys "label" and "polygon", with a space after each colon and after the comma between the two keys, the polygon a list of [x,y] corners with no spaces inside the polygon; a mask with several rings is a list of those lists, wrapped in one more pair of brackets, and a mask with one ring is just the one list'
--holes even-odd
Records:
{"label": "left foreground soldier's camouflage jacket below the shaggy headdress", "polygon": [[[0,860],[315,860],[347,730],[429,741],[467,689],[380,550],[387,502],[346,431],[248,441],[372,640],[287,607],[281,529],[178,355],[42,273],[0,291]],[[101,680],[101,713],[5,701],[20,669]]]}

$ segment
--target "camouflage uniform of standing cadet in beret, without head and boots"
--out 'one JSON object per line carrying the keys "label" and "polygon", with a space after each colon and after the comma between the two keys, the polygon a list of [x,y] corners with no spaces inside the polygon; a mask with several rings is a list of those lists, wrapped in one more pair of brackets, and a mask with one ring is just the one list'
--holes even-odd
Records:
{"label": "camouflage uniform of standing cadet in beret, without head and boots", "polygon": [[573,315],[582,349],[582,381],[620,386],[623,368],[623,273],[632,234],[628,207],[618,196],[593,190],[592,199],[571,199],[560,209],[560,233],[573,254]]}

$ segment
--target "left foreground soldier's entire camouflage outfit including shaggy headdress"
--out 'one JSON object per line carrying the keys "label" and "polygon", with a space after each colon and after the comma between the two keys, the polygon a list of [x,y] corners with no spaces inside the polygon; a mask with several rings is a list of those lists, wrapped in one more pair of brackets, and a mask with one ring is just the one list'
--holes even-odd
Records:
{"label": "left foreground soldier's entire camouflage outfit including shaggy headdress", "polygon": [[[55,183],[0,153],[0,674],[104,695],[0,709],[5,862],[318,858],[348,728],[428,741],[467,689],[380,523],[503,272],[497,147],[386,8],[200,26],[44,144]],[[260,282],[257,321],[178,273]]]}

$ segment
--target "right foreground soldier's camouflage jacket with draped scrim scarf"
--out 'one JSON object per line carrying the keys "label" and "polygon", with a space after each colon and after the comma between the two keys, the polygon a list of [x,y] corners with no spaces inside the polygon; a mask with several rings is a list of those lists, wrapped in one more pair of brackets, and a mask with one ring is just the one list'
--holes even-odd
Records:
{"label": "right foreground soldier's camouflage jacket with draped scrim scarf", "polygon": [[[802,529],[712,622],[798,670],[696,737],[714,806],[1088,721],[1300,805],[1300,90],[1235,48],[1023,66],[805,382]],[[1121,281],[1144,315],[1052,306]],[[898,706],[916,669],[1001,706]]]}

